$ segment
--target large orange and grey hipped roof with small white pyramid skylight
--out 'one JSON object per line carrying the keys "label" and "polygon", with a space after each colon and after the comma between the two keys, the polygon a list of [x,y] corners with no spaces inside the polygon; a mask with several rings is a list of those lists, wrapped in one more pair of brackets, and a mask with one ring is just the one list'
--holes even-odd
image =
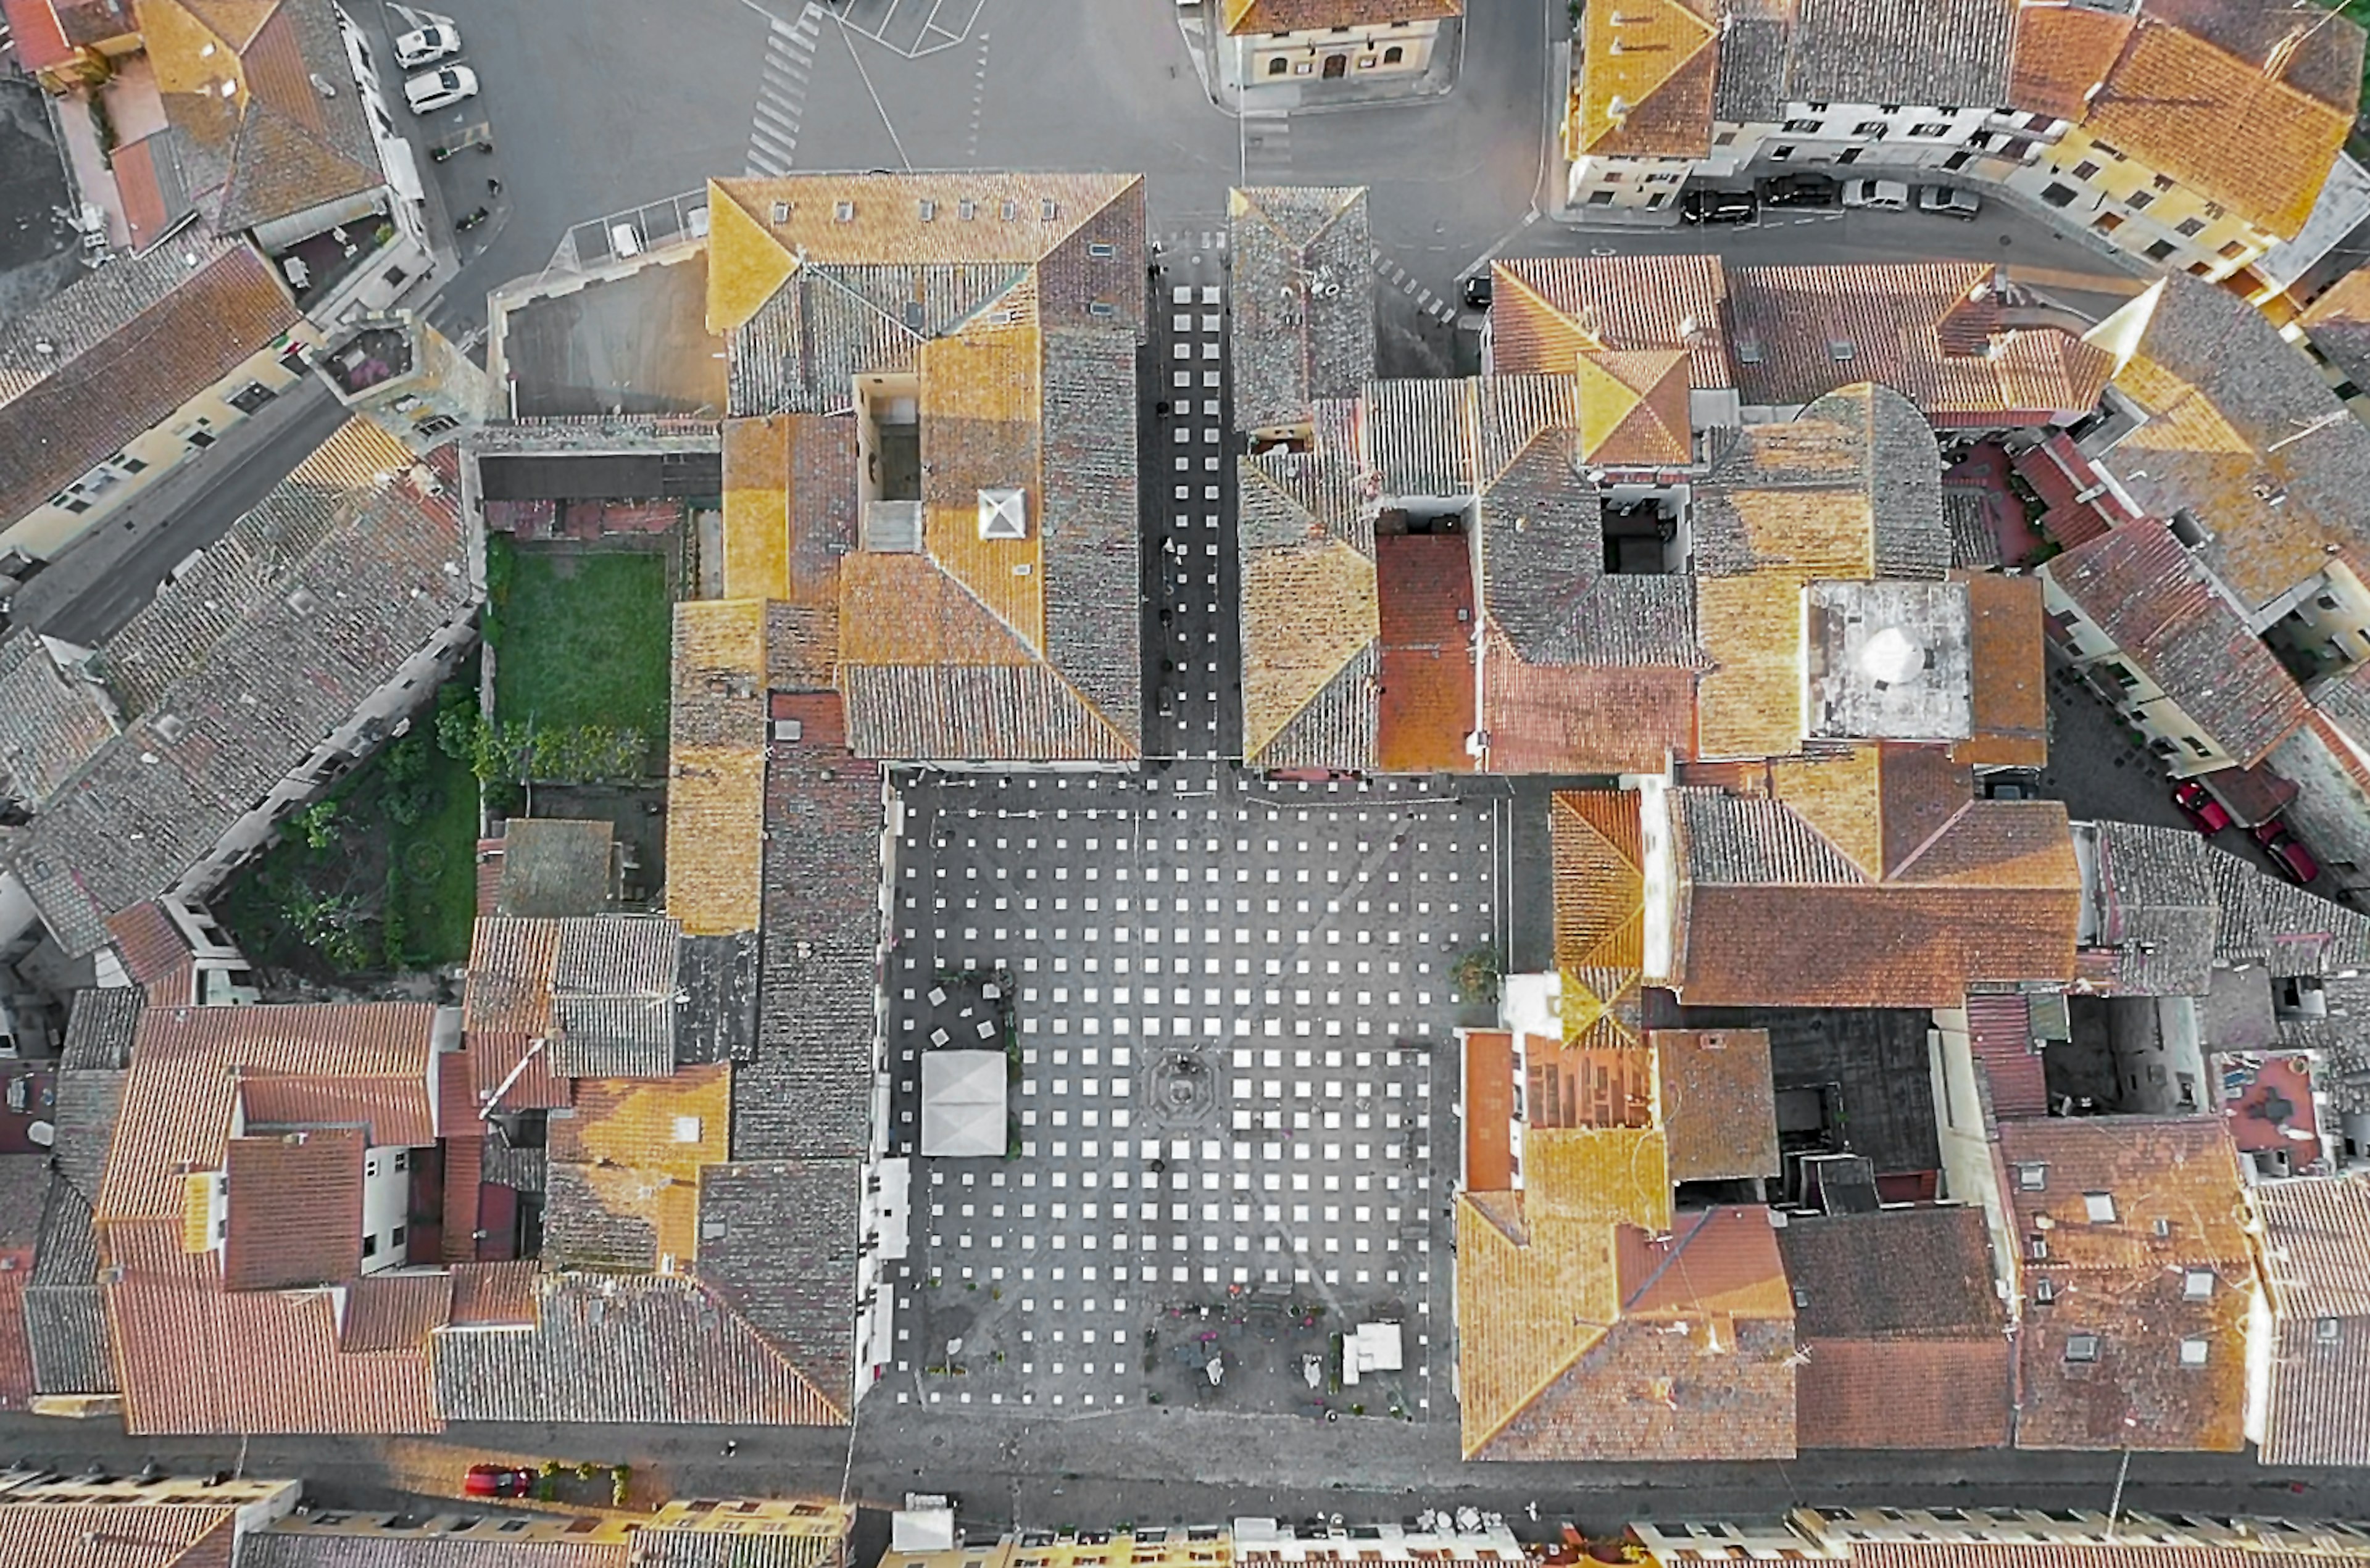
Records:
{"label": "large orange and grey hipped roof with small white pyramid skylight", "polygon": [[[735,415],[846,412],[858,374],[912,377],[920,550],[841,554],[825,635],[853,748],[1133,756],[1138,628],[1107,611],[1138,587],[1142,180],[718,180],[711,211],[709,324],[730,339]],[[853,490],[853,450],[839,457]],[[1005,488],[1024,493],[1024,538],[979,526],[981,495]],[[796,557],[811,519],[728,509],[728,535],[763,535],[728,538],[728,561],[763,561],[784,521]]]}

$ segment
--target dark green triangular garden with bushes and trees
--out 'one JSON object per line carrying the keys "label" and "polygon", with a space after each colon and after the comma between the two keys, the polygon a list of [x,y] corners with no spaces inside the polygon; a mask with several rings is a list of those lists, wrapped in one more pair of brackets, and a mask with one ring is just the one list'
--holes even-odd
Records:
{"label": "dark green triangular garden with bushes and trees", "polygon": [[[446,685],[474,703],[476,661]],[[249,959],[322,983],[469,957],[476,777],[436,744],[434,711],[280,829],[213,898]]]}

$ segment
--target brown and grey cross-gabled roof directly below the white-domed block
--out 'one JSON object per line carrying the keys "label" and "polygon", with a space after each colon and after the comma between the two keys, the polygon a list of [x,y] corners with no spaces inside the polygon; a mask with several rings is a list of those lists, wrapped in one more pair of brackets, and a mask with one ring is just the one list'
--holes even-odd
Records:
{"label": "brown and grey cross-gabled roof directly below the white-domed block", "polygon": [[2062,805],[1974,801],[1965,770],[1917,748],[1773,779],[1787,801],[1673,791],[1690,1004],[1958,1007],[1977,981],[2071,978]]}

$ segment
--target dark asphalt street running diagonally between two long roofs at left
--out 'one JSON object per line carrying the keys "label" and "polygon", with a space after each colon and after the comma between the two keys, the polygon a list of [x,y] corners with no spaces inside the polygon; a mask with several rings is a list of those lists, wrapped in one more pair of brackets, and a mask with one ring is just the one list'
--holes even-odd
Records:
{"label": "dark asphalt street running diagonally between two long roofs at left", "polygon": [[156,595],[173,566],[230,533],[344,422],[346,407],[325,381],[296,381],[26,583],[9,616],[47,637],[97,647]]}

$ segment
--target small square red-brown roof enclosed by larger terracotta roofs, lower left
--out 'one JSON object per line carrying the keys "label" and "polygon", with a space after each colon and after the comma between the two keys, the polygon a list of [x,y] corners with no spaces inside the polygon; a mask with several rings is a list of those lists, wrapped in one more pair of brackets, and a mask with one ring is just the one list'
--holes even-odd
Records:
{"label": "small square red-brown roof enclosed by larger terracotta roofs, lower left", "polygon": [[341,1284],[363,1272],[363,1127],[230,1139],[225,1291]]}

